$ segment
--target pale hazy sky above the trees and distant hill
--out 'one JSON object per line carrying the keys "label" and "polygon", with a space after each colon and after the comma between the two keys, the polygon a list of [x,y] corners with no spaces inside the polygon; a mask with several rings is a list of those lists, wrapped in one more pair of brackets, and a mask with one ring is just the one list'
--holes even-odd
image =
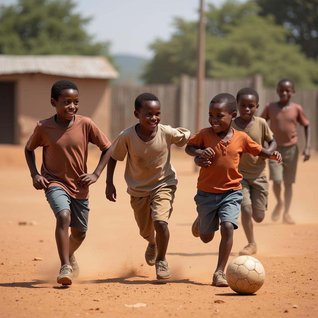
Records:
{"label": "pale hazy sky above the trees and distant hill", "polygon": [[[112,54],[151,58],[148,46],[167,40],[174,31],[173,17],[198,19],[199,0],[73,0],[83,17],[93,17],[87,31],[97,40],[110,41]],[[242,0],[243,1],[243,0]],[[219,5],[224,0],[206,0]],[[0,0],[0,4],[17,0]]]}

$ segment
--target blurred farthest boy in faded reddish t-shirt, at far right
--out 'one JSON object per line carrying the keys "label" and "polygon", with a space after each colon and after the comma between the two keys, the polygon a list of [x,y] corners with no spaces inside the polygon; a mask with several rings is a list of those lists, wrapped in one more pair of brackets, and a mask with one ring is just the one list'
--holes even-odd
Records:
{"label": "blurred farthest boy in faded reddish t-shirt, at far right", "polygon": [[277,93],[280,100],[266,105],[261,117],[271,120],[270,128],[274,133],[277,142],[277,150],[282,154],[282,164],[277,166],[269,162],[269,179],[273,180],[273,190],[277,199],[276,207],[272,213],[272,220],[280,218],[283,201],[280,197],[281,182],[285,187],[285,209],[283,222],[294,224],[294,220],[289,214],[289,207],[292,200],[292,185],[295,182],[298,147],[296,125],[299,122],[305,130],[306,146],[302,153],[302,159],[308,160],[310,157],[310,126],[302,107],[291,101],[294,96],[294,83],[291,79],[281,79],[277,85]]}

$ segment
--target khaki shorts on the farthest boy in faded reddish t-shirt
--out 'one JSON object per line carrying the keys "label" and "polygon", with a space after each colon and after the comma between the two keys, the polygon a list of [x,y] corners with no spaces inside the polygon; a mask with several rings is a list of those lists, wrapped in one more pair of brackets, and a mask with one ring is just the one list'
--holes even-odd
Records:
{"label": "khaki shorts on the farthest boy in faded reddish t-shirt", "polygon": [[269,160],[270,180],[294,183],[298,161],[297,145],[287,147],[278,146],[277,151],[281,153],[283,160],[280,163]]}

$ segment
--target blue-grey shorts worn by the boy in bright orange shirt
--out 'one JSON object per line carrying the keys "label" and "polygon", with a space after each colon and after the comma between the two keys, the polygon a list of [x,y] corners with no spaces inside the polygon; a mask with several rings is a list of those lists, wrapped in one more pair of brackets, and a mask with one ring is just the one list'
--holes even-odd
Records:
{"label": "blue-grey shorts worn by the boy in bright orange shirt", "polygon": [[211,193],[198,189],[194,201],[197,204],[199,233],[218,231],[222,222],[231,222],[236,230],[242,200],[241,190]]}

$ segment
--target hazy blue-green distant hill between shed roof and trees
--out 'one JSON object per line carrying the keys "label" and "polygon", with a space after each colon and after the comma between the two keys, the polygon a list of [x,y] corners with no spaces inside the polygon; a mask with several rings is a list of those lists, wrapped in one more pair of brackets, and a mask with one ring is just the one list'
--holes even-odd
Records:
{"label": "hazy blue-green distant hill between shed roof and trees", "polygon": [[134,84],[142,85],[143,81],[140,79],[142,74],[142,66],[148,62],[139,56],[117,54],[115,55],[115,64],[119,67],[120,77],[116,79],[115,83],[118,84]]}

